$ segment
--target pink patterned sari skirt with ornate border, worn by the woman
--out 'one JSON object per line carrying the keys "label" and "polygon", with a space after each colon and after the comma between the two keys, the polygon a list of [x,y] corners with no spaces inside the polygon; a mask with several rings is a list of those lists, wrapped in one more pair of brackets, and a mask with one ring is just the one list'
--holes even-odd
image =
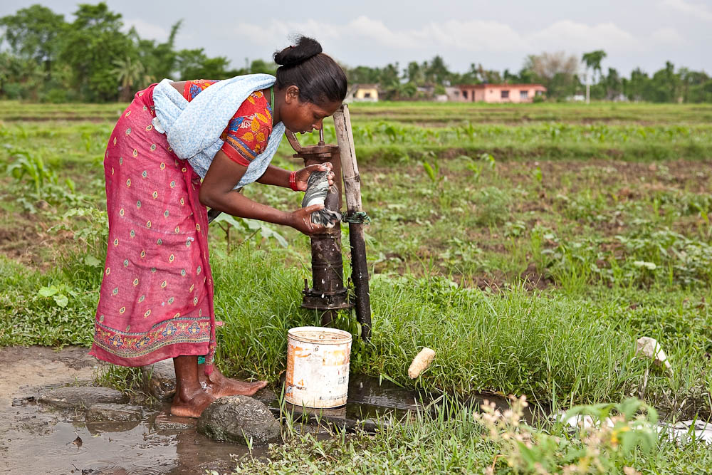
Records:
{"label": "pink patterned sari skirt with ornate border, worn by the woman", "polygon": [[90,355],[142,366],[215,353],[213,281],[200,180],[156,132],[153,88],[118,120],[104,159],[109,242]]}

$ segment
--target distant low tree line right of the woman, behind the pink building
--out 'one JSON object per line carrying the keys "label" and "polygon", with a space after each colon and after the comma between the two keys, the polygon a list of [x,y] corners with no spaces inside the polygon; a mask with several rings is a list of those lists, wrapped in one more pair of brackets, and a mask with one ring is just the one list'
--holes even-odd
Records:
{"label": "distant low tree line right of the woman, behind the pink building", "polygon": [[[516,72],[505,69],[500,73],[471,63],[468,71],[456,73],[449,71],[441,56],[435,56],[423,63],[412,61],[402,70],[398,63],[383,68],[348,68],[347,76],[350,83],[377,83],[387,98],[396,100],[445,93],[447,85],[481,83],[540,83],[547,88],[550,100],[563,100],[583,95],[588,82],[594,100],[712,102],[712,78],[703,71],[675,70],[673,63],[667,61],[651,75],[635,68],[626,78],[615,68],[604,73],[601,62],[605,57],[602,50],[584,53],[580,59],[563,51],[545,52],[527,56]],[[426,85],[434,88],[424,88]]]}

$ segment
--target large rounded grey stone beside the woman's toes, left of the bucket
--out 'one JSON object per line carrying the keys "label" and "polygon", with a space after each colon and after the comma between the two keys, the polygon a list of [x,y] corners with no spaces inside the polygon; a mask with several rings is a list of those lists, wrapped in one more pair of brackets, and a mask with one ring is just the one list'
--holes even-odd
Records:
{"label": "large rounded grey stone beside the woman's toes, left of the bucket", "polygon": [[198,419],[198,432],[211,439],[254,445],[278,442],[281,426],[265,404],[248,396],[221,397]]}

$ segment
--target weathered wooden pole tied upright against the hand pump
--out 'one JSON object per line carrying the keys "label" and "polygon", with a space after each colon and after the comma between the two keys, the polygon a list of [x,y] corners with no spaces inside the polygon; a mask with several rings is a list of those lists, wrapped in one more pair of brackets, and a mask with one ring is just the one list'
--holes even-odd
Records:
{"label": "weathered wooden pole tied upright against the hand pump", "polygon": [[[334,125],[341,155],[347,216],[358,216],[363,211],[361,177],[358,174],[356,163],[356,150],[348,105],[341,105],[334,113]],[[362,338],[369,340],[371,338],[371,297],[368,290],[366,241],[362,222],[349,222],[349,241],[351,244],[351,280],[354,283],[356,298],[356,319],[361,324]]]}

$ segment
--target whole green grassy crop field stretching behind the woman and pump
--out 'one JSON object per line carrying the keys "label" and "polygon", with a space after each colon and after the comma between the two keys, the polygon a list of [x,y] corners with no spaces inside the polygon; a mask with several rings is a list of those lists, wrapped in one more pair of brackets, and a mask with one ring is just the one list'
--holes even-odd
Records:
{"label": "whole green grassy crop field stretching behind the woman and pump", "polygon": [[[122,108],[0,103],[0,345],[89,345],[106,246],[103,150]],[[712,417],[712,106],[377,103],[351,113],[374,313],[352,372],[447,395],[526,395],[551,410],[636,397],[666,422]],[[335,142],[333,124],[325,137]],[[285,140],[276,165],[299,167],[290,154]],[[260,184],[246,193],[280,209],[301,199]],[[239,224],[210,230],[227,323],[219,360],[229,375],[276,382],[286,330],[318,322],[299,307],[308,238]],[[358,333],[350,315],[335,325]],[[641,336],[661,343],[671,371],[636,357]],[[423,346],[436,360],[409,380]],[[535,462],[555,471],[590,455],[585,437],[540,429],[526,459],[453,406],[375,437],[293,434],[269,467],[238,470],[534,473]],[[644,451],[607,437],[592,456],[604,471],[712,471],[695,442]]]}

